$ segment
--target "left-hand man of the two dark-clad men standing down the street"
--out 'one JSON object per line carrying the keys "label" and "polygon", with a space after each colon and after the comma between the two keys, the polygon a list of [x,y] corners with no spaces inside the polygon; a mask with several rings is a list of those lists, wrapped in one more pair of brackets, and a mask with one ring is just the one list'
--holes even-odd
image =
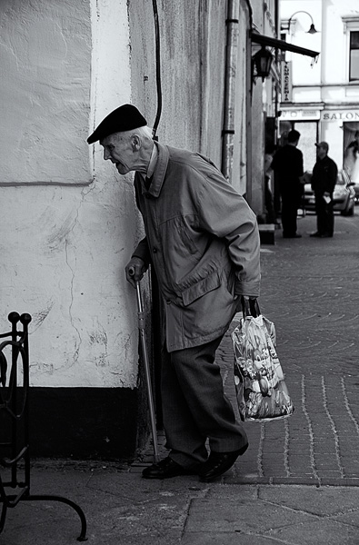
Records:
{"label": "left-hand man of the two dark-clad men standing down the street", "polygon": [[299,138],[298,131],[289,131],[288,144],[278,149],[272,162],[272,169],[279,180],[284,238],[302,236],[296,232],[296,217],[303,193],[303,184],[300,182],[303,176],[303,154],[296,147]]}

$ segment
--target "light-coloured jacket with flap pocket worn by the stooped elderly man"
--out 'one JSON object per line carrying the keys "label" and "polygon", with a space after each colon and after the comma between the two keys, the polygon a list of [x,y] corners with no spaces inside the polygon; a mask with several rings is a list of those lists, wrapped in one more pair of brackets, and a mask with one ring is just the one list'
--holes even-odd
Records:
{"label": "light-coloured jacket with flap pocket worn by the stooped elderly man", "polygon": [[145,239],[133,256],[152,263],[165,300],[168,352],[224,334],[238,295],[259,295],[255,215],[208,159],[162,144],[152,183],[135,174]]}

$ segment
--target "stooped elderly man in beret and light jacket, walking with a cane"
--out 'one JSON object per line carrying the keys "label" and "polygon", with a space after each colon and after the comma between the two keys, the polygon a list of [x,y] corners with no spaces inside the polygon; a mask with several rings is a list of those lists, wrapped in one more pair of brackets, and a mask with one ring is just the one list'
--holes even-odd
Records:
{"label": "stooped elderly man in beret and light jacket, walking with a cane", "polygon": [[126,266],[127,280],[135,287],[151,264],[165,302],[161,391],[170,452],[143,477],[196,473],[213,481],[248,446],[214,358],[241,297],[259,294],[255,215],[204,156],[154,142],[131,104],[109,114],[87,142],[97,140],[120,174],[135,171],[146,236]]}

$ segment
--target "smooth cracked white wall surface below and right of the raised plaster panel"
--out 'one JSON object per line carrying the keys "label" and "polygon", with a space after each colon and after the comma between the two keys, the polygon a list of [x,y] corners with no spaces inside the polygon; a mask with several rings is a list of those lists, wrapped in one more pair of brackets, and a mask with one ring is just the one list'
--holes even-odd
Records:
{"label": "smooth cracked white wall surface below and right of the raised plaster panel", "polygon": [[[55,24],[59,13],[55,4],[49,5]],[[131,100],[127,6],[125,0],[91,0],[90,6],[93,99],[84,108],[88,119],[91,105],[98,124]],[[41,47],[38,54],[44,54]],[[64,105],[59,102],[59,109]],[[63,115],[71,120],[65,108]],[[83,127],[81,138],[94,123]],[[21,154],[21,144],[16,146]],[[93,149],[86,144],[77,156],[74,147],[75,162],[90,165],[94,176],[86,187],[1,188],[0,331],[9,329],[8,312],[32,314],[30,377],[35,386],[133,388],[136,383],[135,293],[124,272],[139,234],[132,179],[120,179],[113,165],[102,160],[98,144],[94,155]],[[62,152],[56,149],[59,156]]]}

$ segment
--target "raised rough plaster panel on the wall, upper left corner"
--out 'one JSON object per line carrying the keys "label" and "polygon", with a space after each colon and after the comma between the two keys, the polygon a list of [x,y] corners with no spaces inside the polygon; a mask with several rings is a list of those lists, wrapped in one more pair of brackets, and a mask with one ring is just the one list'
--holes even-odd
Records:
{"label": "raised rough plaster panel on the wall, upper left corner", "polygon": [[0,3],[0,184],[89,183],[88,0]]}

